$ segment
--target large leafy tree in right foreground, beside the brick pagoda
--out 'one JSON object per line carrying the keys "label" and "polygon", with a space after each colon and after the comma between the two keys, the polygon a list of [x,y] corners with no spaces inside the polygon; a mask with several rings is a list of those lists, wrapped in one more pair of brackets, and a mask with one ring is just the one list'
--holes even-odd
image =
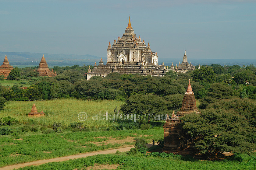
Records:
{"label": "large leafy tree in right foreground, beside the brick pagoda", "polygon": [[191,137],[199,137],[194,143],[202,154],[233,152],[250,153],[255,150],[255,128],[248,120],[233,111],[207,109],[201,114],[191,113],[183,118],[183,129]]}

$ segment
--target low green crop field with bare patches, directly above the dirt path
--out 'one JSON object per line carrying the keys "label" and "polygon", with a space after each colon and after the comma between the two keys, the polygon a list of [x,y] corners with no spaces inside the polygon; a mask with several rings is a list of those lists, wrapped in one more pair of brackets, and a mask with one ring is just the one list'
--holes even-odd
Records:
{"label": "low green crop field with bare patches, directly above the dirt path", "polygon": [[134,145],[134,137],[151,142],[163,139],[163,128],[43,134],[27,132],[17,137],[0,136],[0,167],[29,161],[56,158],[108,148]]}

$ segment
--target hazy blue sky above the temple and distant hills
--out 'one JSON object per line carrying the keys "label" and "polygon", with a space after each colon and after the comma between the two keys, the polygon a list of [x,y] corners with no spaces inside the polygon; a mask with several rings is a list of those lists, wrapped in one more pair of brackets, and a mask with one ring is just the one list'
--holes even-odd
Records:
{"label": "hazy blue sky above the temple and distant hills", "polygon": [[129,15],[161,58],[255,59],[256,2],[0,0],[0,51],[107,56]]}

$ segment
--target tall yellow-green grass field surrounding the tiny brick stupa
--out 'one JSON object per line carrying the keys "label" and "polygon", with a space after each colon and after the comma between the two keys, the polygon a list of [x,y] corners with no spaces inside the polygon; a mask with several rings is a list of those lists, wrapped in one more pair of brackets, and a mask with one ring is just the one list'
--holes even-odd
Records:
{"label": "tall yellow-green grass field surrounding the tiny brick stupa", "polygon": [[[44,117],[28,118],[27,114],[30,112],[33,101],[7,101],[4,109],[0,112],[0,117],[11,116],[15,117],[21,123],[30,123],[31,120],[35,124],[41,126],[52,127],[53,122],[62,123],[64,126],[69,126],[70,123],[78,122],[78,114],[85,112],[87,114],[87,120],[84,123],[88,127],[108,127],[115,122],[109,120],[100,120],[105,115],[113,113],[114,109],[120,109],[120,105],[123,102],[108,101],[108,100],[77,100],[77,99],[54,99],[35,101],[37,111],[44,111]],[[93,120],[93,114],[97,114],[97,120]],[[84,117],[85,118],[85,117]],[[94,117],[96,119],[96,117]]]}

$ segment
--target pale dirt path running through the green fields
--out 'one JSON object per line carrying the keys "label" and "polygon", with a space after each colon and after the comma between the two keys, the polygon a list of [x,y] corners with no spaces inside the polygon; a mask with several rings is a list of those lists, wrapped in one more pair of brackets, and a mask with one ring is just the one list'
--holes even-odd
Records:
{"label": "pale dirt path running through the green fields", "polygon": [[87,156],[93,156],[93,155],[97,155],[97,154],[113,154],[113,153],[116,153],[116,151],[125,152],[125,151],[130,151],[130,149],[132,147],[134,147],[134,146],[123,147],[123,148],[118,148],[118,149],[111,149],[111,150],[105,150],[105,151],[95,151],[95,152],[65,156],[65,157],[60,157],[60,158],[52,158],[52,159],[45,159],[45,160],[27,162],[27,163],[23,163],[23,164],[5,166],[5,167],[0,168],[0,170],[11,170],[11,169],[14,169],[14,168],[18,169],[18,168],[23,168],[25,166],[41,165],[41,164],[45,164],[45,163],[48,163],[48,162],[68,161],[69,159],[84,158],[84,157],[87,157]]}

